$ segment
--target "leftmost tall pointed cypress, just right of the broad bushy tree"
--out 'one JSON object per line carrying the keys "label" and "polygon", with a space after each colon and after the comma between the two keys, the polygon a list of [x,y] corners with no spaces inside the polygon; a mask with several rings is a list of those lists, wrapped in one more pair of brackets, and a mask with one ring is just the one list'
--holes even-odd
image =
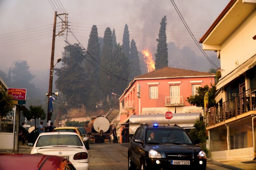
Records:
{"label": "leftmost tall pointed cypress, just right of the broad bushy tree", "polygon": [[[99,43],[99,38],[98,38],[98,29],[96,25],[92,26],[92,30],[90,33],[90,38],[88,40],[88,46],[87,46],[87,51],[86,57],[89,61],[85,61],[85,72],[88,75],[88,78],[94,82],[91,84],[91,86],[88,86],[88,91],[89,91],[89,100],[88,100],[88,107],[89,108],[94,108],[96,106],[96,103],[99,101],[100,94],[99,94],[99,75],[100,75],[100,70],[96,66],[100,67],[98,63],[100,63],[100,43]],[[98,62],[96,62],[94,59]],[[94,65],[93,65],[93,64]],[[96,66],[95,66],[96,65]]]}

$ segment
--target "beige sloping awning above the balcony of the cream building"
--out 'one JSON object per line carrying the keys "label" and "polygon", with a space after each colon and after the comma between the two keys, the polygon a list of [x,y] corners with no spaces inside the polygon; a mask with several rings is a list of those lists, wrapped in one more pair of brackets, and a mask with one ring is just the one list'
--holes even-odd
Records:
{"label": "beige sloping awning above the balcony of the cream building", "polygon": [[246,72],[247,70],[253,68],[253,66],[256,65],[256,55],[254,55],[252,58],[238,66],[234,71],[230,72],[228,75],[226,75],[223,78],[220,78],[219,82],[216,84],[216,88],[220,89],[235,78],[239,77],[241,74]]}

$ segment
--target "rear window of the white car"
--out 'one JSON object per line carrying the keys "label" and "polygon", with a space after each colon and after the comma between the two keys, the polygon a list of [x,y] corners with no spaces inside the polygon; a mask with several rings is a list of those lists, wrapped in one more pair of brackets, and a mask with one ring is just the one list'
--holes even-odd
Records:
{"label": "rear window of the white car", "polygon": [[62,145],[72,145],[80,146],[83,144],[81,139],[77,135],[42,135],[38,138],[36,147],[46,147],[46,146],[62,146]]}

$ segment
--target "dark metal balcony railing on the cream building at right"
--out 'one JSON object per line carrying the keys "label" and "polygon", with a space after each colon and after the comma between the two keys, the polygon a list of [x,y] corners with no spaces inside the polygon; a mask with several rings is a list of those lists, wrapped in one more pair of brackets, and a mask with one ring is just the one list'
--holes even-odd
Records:
{"label": "dark metal balcony railing on the cream building at right", "polygon": [[256,90],[248,89],[206,113],[206,126],[220,123],[250,110],[256,110]]}

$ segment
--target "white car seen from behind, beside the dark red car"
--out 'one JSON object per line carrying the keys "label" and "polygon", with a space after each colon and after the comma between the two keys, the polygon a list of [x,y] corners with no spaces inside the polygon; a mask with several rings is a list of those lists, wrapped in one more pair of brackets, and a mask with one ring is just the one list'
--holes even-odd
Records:
{"label": "white car seen from behind, beside the dark red car", "polygon": [[41,133],[30,154],[63,156],[76,170],[89,169],[89,155],[82,139],[74,132]]}

